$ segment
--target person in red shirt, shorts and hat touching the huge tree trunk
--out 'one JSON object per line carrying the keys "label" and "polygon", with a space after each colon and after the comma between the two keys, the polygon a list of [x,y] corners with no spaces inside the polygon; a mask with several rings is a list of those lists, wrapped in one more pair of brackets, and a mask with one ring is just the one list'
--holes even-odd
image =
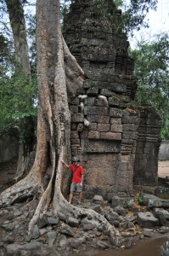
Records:
{"label": "person in red shirt, shorts and hat touching the huge tree trunk", "polygon": [[72,183],[70,186],[69,203],[71,203],[73,199],[74,192],[79,192],[78,203],[80,204],[82,201],[82,182],[84,171],[82,166],[79,164],[79,158],[74,156],[72,159],[72,164],[70,166],[67,165],[64,160],[62,160],[62,164],[64,164],[67,168],[70,168],[70,170],[73,172]]}

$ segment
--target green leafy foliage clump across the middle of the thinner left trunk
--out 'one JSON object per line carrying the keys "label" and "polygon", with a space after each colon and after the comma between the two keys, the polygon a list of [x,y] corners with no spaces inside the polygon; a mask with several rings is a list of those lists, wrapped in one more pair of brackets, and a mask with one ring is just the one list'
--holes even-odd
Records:
{"label": "green leafy foliage clump across the middle of the thinner left trunk", "polygon": [[[14,76],[11,79],[0,79],[0,136],[12,128],[21,131],[21,120],[25,117],[36,117],[37,79]],[[34,104],[33,104],[34,99]]]}

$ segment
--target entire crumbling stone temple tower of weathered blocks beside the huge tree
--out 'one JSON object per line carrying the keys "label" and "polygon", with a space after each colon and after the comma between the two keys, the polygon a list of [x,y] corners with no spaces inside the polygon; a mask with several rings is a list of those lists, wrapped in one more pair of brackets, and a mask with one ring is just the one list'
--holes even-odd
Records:
{"label": "entire crumbling stone temple tower of weathered blocks beside the huge tree", "polygon": [[64,38],[87,75],[70,97],[71,154],[82,160],[84,195],[109,200],[157,185],[161,119],[152,108],[132,107],[137,85],[127,35],[116,29],[121,11],[112,1],[98,9],[99,2],[72,1]]}

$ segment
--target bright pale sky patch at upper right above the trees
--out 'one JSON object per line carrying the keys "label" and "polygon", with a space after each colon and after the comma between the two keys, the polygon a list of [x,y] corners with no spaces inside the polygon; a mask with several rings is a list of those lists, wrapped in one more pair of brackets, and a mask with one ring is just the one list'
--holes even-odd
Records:
{"label": "bright pale sky patch at upper right above the trees", "polygon": [[132,49],[141,38],[149,41],[154,34],[169,32],[169,0],[158,0],[157,10],[150,10],[147,19],[149,28],[142,28],[139,32],[134,32],[133,38],[129,38]]}

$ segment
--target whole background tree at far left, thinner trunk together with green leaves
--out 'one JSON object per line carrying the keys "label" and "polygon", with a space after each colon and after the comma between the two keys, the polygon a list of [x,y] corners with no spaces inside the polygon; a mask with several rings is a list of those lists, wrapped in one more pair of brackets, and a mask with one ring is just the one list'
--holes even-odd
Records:
{"label": "whole background tree at far left, thinner trunk together with green leaves", "polygon": [[[31,66],[26,39],[24,9],[20,0],[5,0],[2,3],[5,9],[4,3],[6,3],[13,32],[14,47],[12,49],[14,53],[12,54],[13,69],[8,73],[6,79],[3,77],[0,81],[3,98],[1,106],[4,110],[2,121],[4,121],[4,124],[8,124],[6,127],[3,125],[2,130],[7,133],[8,130],[5,128],[10,129],[11,125],[14,125],[18,130],[20,150],[16,176],[19,177],[26,170],[35,143],[34,119],[32,116],[36,112],[33,107],[33,86],[31,84]],[[5,102],[7,103],[4,108]],[[12,106],[14,108],[11,108]]]}

